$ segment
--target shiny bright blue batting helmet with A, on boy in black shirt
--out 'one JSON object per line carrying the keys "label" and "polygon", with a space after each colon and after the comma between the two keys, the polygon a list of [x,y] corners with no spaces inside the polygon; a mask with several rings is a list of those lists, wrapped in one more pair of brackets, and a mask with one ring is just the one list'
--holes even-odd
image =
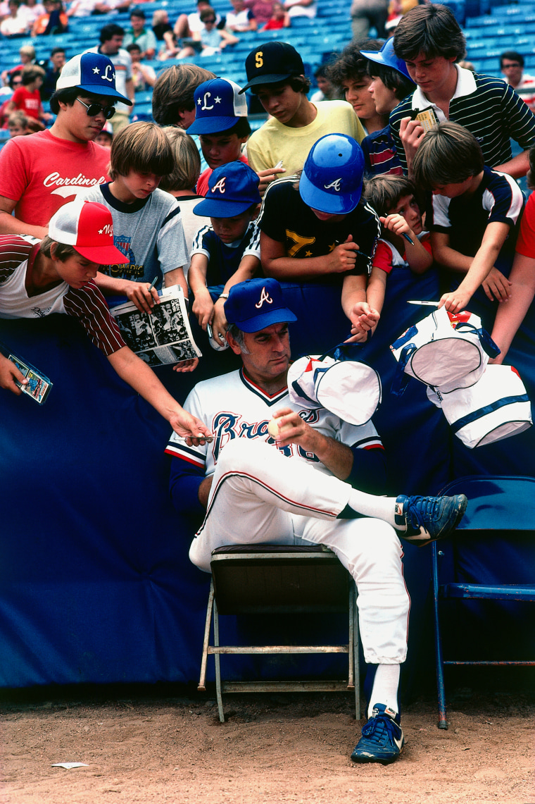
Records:
{"label": "shiny bright blue batting helmet with A, on boy in black shirt", "polygon": [[353,137],[325,134],[314,143],[299,179],[304,203],[320,212],[346,215],[361,199],[364,154]]}

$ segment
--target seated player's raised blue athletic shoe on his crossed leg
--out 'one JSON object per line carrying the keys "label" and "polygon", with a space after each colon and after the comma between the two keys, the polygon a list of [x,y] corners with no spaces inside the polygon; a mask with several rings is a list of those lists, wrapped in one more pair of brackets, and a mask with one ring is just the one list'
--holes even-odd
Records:
{"label": "seated player's raised blue athletic shoe on his crossed leg", "polygon": [[395,526],[402,539],[420,547],[443,539],[463,519],[468,500],[464,494],[455,497],[406,497],[396,499]]}

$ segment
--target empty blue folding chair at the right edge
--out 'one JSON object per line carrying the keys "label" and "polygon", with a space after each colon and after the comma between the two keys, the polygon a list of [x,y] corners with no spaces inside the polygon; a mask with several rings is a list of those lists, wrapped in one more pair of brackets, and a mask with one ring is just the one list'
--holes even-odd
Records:
{"label": "empty blue folding chair at the right edge", "polygon": [[[446,599],[535,602],[535,478],[472,475],[448,483],[440,493],[468,497],[455,533],[431,545],[439,728],[447,728],[444,665],[535,667],[535,659],[444,659],[439,620],[439,604]],[[494,560],[490,571],[485,567],[489,556]],[[504,583],[496,579],[502,573]],[[444,580],[446,574],[452,580]]]}

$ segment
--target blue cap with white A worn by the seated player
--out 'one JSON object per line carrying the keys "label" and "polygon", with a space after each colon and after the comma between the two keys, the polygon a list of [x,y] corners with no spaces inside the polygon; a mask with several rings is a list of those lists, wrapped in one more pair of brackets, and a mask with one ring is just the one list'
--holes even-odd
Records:
{"label": "blue cap with white A worn by the seated player", "polygon": [[259,332],[265,326],[297,321],[285,305],[276,279],[247,279],[232,285],[223,309],[227,322],[242,332]]}

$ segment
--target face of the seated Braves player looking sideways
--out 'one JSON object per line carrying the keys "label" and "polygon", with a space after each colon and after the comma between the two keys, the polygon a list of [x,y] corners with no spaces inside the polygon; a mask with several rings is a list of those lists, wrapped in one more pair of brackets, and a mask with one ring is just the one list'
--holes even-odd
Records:
{"label": "face of the seated Braves player looking sideways", "polygon": [[272,324],[259,332],[246,332],[243,339],[244,349],[233,347],[233,351],[242,355],[248,377],[258,383],[272,383],[283,375],[285,378],[290,363],[288,324]]}

